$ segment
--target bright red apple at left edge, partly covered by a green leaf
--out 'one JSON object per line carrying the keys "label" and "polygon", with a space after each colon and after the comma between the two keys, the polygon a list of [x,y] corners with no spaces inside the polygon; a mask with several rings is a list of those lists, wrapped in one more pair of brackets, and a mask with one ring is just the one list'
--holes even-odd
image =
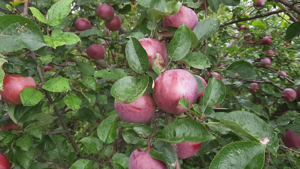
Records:
{"label": "bright red apple at left edge, partly covered by a green leaf", "polygon": [[35,80],[32,77],[5,75],[3,78],[3,91],[0,91],[2,100],[7,104],[22,104],[20,93],[27,87],[36,89]]}

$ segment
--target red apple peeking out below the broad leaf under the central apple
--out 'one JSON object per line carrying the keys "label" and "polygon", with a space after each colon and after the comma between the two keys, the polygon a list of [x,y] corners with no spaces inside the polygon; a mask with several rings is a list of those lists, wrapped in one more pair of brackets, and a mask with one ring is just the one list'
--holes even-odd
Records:
{"label": "red apple peeking out below the broad leaf under the central apple", "polygon": [[185,159],[194,156],[200,149],[201,144],[201,142],[183,142],[177,144],[178,157],[181,159]]}

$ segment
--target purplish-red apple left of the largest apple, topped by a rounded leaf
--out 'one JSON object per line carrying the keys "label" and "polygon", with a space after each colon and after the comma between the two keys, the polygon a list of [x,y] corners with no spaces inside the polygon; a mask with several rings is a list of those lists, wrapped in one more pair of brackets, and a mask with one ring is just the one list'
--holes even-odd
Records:
{"label": "purplish-red apple left of the largest apple, topped by a rounded leaf", "polygon": [[131,123],[144,123],[153,117],[156,104],[151,94],[143,94],[140,98],[132,103],[116,103],[115,109],[119,117],[127,122]]}

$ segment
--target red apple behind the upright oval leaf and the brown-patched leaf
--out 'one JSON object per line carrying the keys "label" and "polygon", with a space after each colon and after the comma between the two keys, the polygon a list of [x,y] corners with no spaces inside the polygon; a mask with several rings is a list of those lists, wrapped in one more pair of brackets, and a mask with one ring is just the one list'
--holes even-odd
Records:
{"label": "red apple behind the upright oval leaf and the brown-patched leaf", "polygon": [[141,45],[145,49],[149,58],[149,70],[152,69],[152,60],[155,57],[155,54],[161,54],[161,57],[164,59],[165,64],[167,64],[167,49],[161,41],[152,38],[142,38],[139,39]]}

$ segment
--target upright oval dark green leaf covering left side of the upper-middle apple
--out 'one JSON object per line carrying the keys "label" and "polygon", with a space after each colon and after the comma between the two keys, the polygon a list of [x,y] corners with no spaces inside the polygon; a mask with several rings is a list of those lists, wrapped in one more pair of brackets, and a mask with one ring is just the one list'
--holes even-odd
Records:
{"label": "upright oval dark green leaf covering left side of the upper-middle apple", "polygon": [[131,37],[125,47],[126,59],[129,66],[138,74],[146,73],[149,69],[149,57],[142,44]]}

